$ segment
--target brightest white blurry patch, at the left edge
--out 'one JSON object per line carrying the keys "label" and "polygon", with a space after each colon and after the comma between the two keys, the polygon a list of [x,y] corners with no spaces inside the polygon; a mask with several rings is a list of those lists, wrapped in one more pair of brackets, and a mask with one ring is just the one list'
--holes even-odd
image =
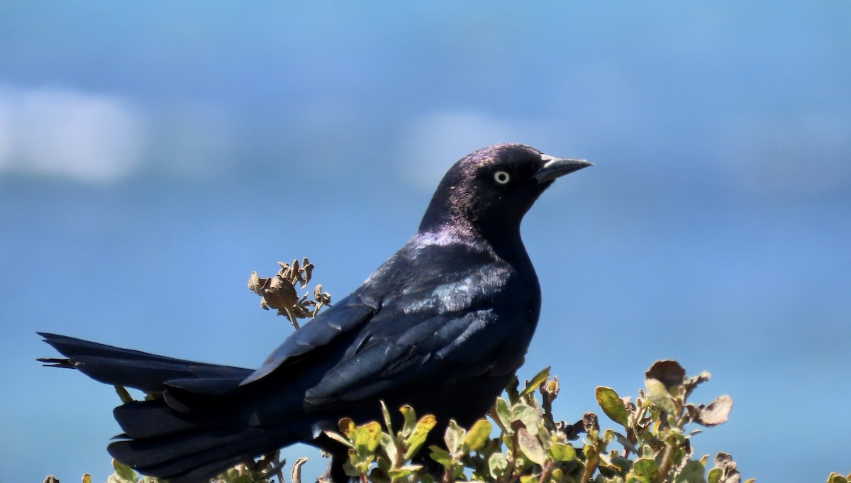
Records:
{"label": "brightest white blurry patch, at the left edge", "polygon": [[137,167],[144,137],[140,113],[126,99],[0,86],[0,173],[109,183]]}

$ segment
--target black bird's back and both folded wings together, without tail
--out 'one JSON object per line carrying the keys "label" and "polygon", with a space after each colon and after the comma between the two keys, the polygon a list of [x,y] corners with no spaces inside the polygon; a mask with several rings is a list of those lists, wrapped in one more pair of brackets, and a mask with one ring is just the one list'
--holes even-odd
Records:
{"label": "black bird's back and both folded wings together, without tail", "polygon": [[[305,409],[323,412],[441,378],[513,372],[528,343],[519,332],[529,313],[515,275],[482,250],[405,247],[284,341],[243,385],[287,380],[306,391]],[[283,399],[271,417],[287,406]]]}

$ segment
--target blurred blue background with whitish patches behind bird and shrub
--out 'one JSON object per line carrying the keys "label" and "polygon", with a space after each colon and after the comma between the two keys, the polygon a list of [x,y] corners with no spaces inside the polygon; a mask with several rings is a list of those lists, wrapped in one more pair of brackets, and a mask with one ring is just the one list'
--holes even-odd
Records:
{"label": "blurred blue background with whitish patches behind bird and shrub", "polygon": [[[851,3],[0,5],[0,481],[111,473],[113,389],[37,330],[254,367],[253,270],[340,298],[460,156],[596,166],[523,224],[521,377],[560,418],[663,358],[734,399],[695,437],[745,477],[851,472]],[[316,451],[306,478],[323,469]]]}

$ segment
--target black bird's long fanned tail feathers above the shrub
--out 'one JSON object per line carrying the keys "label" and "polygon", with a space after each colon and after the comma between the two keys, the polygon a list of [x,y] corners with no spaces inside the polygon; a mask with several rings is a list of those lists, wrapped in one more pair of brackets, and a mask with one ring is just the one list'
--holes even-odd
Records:
{"label": "black bird's long fanned tail feathers above the shrub", "polygon": [[[71,367],[95,380],[163,394],[113,412],[124,431],[110,454],[142,474],[172,483],[207,481],[221,471],[310,434],[310,423],[252,426],[241,406],[239,383],[250,369],[184,361],[138,350],[41,333],[66,359],[39,359]],[[200,393],[187,387],[201,389]]]}

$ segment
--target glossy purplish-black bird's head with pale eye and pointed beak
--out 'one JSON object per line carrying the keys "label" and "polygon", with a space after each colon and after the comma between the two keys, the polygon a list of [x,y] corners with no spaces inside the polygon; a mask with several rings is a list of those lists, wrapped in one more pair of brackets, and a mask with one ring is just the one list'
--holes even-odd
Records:
{"label": "glossy purplish-black bird's head with pale eye and pointed beak", "polygon": [[555,179],[588,166],[591,162],[548,156],[527,145],[480,149],[443,176],[419,231],[472,231],[488,239],[519,233],[523,215]]}

